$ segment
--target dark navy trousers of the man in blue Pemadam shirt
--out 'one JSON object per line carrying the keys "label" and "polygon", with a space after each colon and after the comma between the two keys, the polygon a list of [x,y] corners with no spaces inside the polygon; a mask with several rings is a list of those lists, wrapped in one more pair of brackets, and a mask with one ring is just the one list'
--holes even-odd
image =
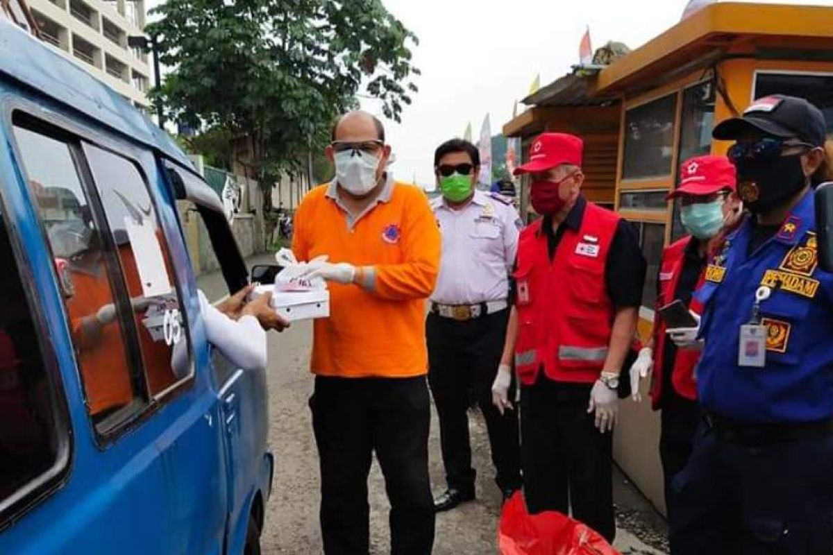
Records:
{"label": "dark navy trousers of the man in blue Pemadam shirt", "polygon": [[703,425],[671,487],[672,555],[833,553],[833,436],[741,445]]}

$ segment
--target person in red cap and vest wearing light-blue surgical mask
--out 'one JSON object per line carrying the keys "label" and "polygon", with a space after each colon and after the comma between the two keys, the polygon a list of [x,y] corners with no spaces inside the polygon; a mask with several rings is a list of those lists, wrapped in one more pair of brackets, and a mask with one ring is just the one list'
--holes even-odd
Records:
{"label": "person in red cap and vest wearing light-blue surgical mask", "polygon": [[[631,367],[631,384],[638,400],[639,376],[653,365],[651,403],[662,410],[660,458],[665,477],[666,507],[673,510],[671,478],[685,468],[700,424],[697,407],[695,366],[700,350],[678,347],[666,334],[667,325],[659,309],[681,300],[699,315],[702,306],[694,292],[706,278],[706,259],[741,220],[741,201],[735,193],[736,169],[726,156],[696,156],[680,167],[680,186],[669,198],[680,199],[683,227],[690,235],[668,245],[662,252],[656,280],[656,317],[651,340]],[[656,364],[654,364],[656,359]]]}

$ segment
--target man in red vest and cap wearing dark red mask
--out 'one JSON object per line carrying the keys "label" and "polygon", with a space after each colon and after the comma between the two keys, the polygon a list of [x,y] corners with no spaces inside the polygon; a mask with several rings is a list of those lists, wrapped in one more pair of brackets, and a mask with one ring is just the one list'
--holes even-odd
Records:
{"label": "man in red vest and cap wearing dark red mask", "polygon": [[636,330],[646,263],[636,229],[581,196],[583,142],[564,133],[532,141],[531,203],[543,216],[521,231],[501,368],[521,382],[521,461],[530,513],[572,514],[608,540],[612,429],[619,374]]}

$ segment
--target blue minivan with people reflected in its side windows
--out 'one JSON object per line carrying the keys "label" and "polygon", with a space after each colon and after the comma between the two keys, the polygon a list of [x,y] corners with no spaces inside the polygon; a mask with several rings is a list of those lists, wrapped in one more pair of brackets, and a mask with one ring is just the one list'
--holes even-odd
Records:
{"label": "blue minivan with people reflected in its side windows", "polygon": [[0,18],[0,553],[260,553],[265,374],[207,343],[217,195],[129,102]]}

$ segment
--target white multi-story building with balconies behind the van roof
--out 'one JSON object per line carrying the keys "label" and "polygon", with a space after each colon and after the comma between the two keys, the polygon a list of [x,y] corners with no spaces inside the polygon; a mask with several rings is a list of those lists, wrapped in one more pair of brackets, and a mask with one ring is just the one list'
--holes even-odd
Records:
{"label": "white multi-story building with balconies behind the van roof", "polygon": [[147,109],[148,56],[127,45],[142,35],[144,0],[27,0],[40,37],[107,83],[137,107]]}

